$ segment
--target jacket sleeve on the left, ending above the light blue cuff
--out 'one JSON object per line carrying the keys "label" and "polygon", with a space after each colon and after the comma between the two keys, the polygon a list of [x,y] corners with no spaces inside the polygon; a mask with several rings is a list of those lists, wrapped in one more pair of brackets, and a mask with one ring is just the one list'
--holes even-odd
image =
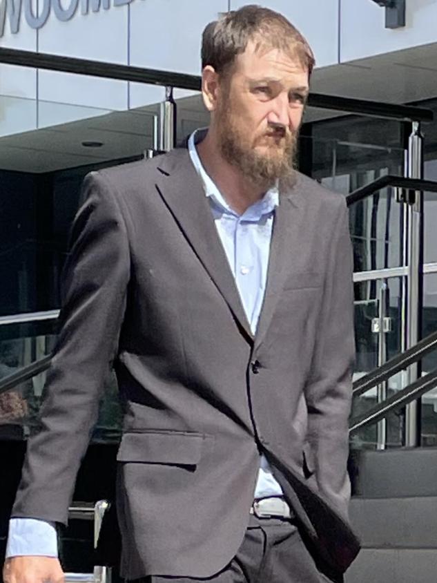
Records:
{"label": "jacket sleeve on the left, ending above the light blue cuff", "polygon": [[117,191],[104,174],[89,174],[83,195],[64,269],[61,328],[41,428],[28,442],[12,517],[67,523],[77,470],[117,353],[130,276],[126,226]]}

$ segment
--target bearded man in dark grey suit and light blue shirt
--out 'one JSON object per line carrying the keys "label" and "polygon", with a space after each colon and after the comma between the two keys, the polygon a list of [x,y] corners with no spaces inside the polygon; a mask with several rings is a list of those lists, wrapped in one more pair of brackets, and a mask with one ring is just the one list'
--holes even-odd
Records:
{"label": "bearded man in dark grey suit and light blue shirt", "polygon": [[206,27],[202,61],[208,131],[84,183],[7,583],[61,577],[56,551],[14,551],[14,534],[26,546],[66,522],[111,364],[122,576],[340,581],[358,552],[347,210],[292,162],[313,55],[287,19],[246,6]]}

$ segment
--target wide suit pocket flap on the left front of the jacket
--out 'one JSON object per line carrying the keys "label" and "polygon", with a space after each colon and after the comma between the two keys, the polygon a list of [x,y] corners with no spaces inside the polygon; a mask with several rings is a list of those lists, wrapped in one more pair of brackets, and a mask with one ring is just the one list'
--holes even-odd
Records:
{"label": "wide suit pocket flap on the left front of the jacket", "polygon": [[207,436],[182,431],[126,432],[122,437],[117,461],[175,463],[194,466],[202,457]]}

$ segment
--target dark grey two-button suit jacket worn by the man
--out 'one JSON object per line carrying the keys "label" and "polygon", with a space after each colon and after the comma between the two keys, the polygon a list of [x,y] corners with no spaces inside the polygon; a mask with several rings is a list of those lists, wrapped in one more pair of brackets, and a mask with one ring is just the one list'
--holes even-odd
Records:
{"label": "dark grey two-button suit jacket worn by the man", "polygon": [[43,427],[12,515],[66,523],[114,365],[122,575],[208,577],[244,537],[260,452],[323,564],[347,523],[353,362],[344,198],[298,175],[280,195],[253,337],[186,149],[88,175],[72,229]]}

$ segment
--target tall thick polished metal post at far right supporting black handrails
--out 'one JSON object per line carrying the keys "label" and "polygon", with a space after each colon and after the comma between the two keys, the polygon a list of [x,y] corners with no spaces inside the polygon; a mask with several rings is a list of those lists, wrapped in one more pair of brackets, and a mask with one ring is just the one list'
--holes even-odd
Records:
{"label": "tall thick polished metal post at far right supporting black handrails", "polygon": [[[423,135],[420,131],[419,122],[413,122],[412,124],[412,133],[408,142],[407,170],[409,178],[423,178]],[[420,336],[420,306],[422,305],[422,299],[420,298],[422,269],[420,263],[423,247],[422,198],[422,193],[416,191],[415,200],[411,201],[411,204],[407,204],[407,348],[417,344]],[[411,365],[407,370],[408,384],[416,381],[418,374],[418,364]],[[410,403],[405,410],[405,445],[409,447],[416,447],[419,442],[418,404],[418,401]]]}

